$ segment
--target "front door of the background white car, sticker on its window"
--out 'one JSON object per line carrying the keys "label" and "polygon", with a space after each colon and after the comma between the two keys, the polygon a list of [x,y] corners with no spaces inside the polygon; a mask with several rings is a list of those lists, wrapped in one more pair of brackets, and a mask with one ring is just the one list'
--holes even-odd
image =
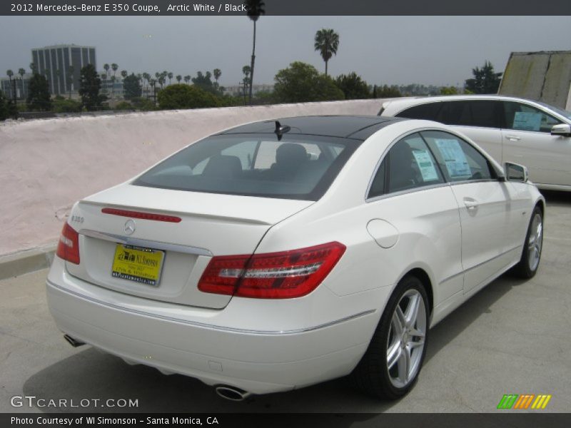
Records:
{"label": "front door of the background white car, sticker on its window", "polygon": [[502,101],[502,106],[502,162],[527,166],[534,183],[571,185],[571,138],[550,134],[562,121],[530,104]]}

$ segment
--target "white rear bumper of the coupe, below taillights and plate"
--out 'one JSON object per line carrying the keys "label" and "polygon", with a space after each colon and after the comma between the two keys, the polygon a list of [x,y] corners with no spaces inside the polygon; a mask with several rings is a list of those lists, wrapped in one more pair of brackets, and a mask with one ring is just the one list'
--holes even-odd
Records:
{"label": "white rear bumper of the coupe, below taillights and plate", "polygon": [[[231,328],[216,325],[223,310],[203,310],[204,316],[194,320],[183,315],[165,317],[143,299],[129,296],[131,305],[121,307],[117,304],[121,293],[80,291],[88,287],[98,289],[71,277],[63,263],[54,262],[46,283],[47,298],[62,332],[128,362],[256,394],[348,374],[368,347],[378,322],[376,312],[369,310],[300,330],[256,332],[241,329],[239,320]],[[117,300],[111,300],[111,295]],[[133,306],[133,300],[141,305]]]}

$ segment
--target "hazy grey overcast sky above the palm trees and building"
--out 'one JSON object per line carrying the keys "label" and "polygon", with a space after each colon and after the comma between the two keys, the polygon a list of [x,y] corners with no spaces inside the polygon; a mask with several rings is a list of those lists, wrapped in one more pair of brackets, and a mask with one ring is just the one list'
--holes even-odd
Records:
{"label": "hazy grey overcast sky above the palm trees and building", "polygon": [[[329,73],[356,71],[368,83],[462,84],[489,60],[503,71],[512,51],[571,50],[571,16],[261,16],[254,83],[292,61],[324,71],[315,31],[338,32]],[[246,16],[0,16],[0,75],[29,68],[31,49],[53,44],[96,46],[98,69],[118,63],[129,73],[220,68],[222,85],[250,63],[252,22]]]}

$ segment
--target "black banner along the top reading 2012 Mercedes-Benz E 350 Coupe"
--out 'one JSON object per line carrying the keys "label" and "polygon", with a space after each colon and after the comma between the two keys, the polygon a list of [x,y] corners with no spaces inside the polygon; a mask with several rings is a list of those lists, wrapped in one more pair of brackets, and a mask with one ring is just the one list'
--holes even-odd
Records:
{"label": "black banner along the top reading 2012 Mercedes-Benz E 350 Coupe", "polygon": [[[569,0],[265,0],[267,16],[564,16]],[[242,0],[27,0],[2,1],[12,16],[243,16]]]}

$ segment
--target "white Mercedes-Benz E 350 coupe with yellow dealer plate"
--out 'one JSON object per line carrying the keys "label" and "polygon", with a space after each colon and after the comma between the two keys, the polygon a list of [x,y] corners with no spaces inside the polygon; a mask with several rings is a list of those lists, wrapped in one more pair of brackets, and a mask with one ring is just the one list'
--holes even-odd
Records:
{"label": "white Mercedes-Benz E 350 coupe with yellow dealer plate", "polygon": [[260,121],[76,203],[47,297],[72,345],[229,399],[347,374],[396,399],[430,327],[535,275],[544,213],[525,167],[440,123]]}

